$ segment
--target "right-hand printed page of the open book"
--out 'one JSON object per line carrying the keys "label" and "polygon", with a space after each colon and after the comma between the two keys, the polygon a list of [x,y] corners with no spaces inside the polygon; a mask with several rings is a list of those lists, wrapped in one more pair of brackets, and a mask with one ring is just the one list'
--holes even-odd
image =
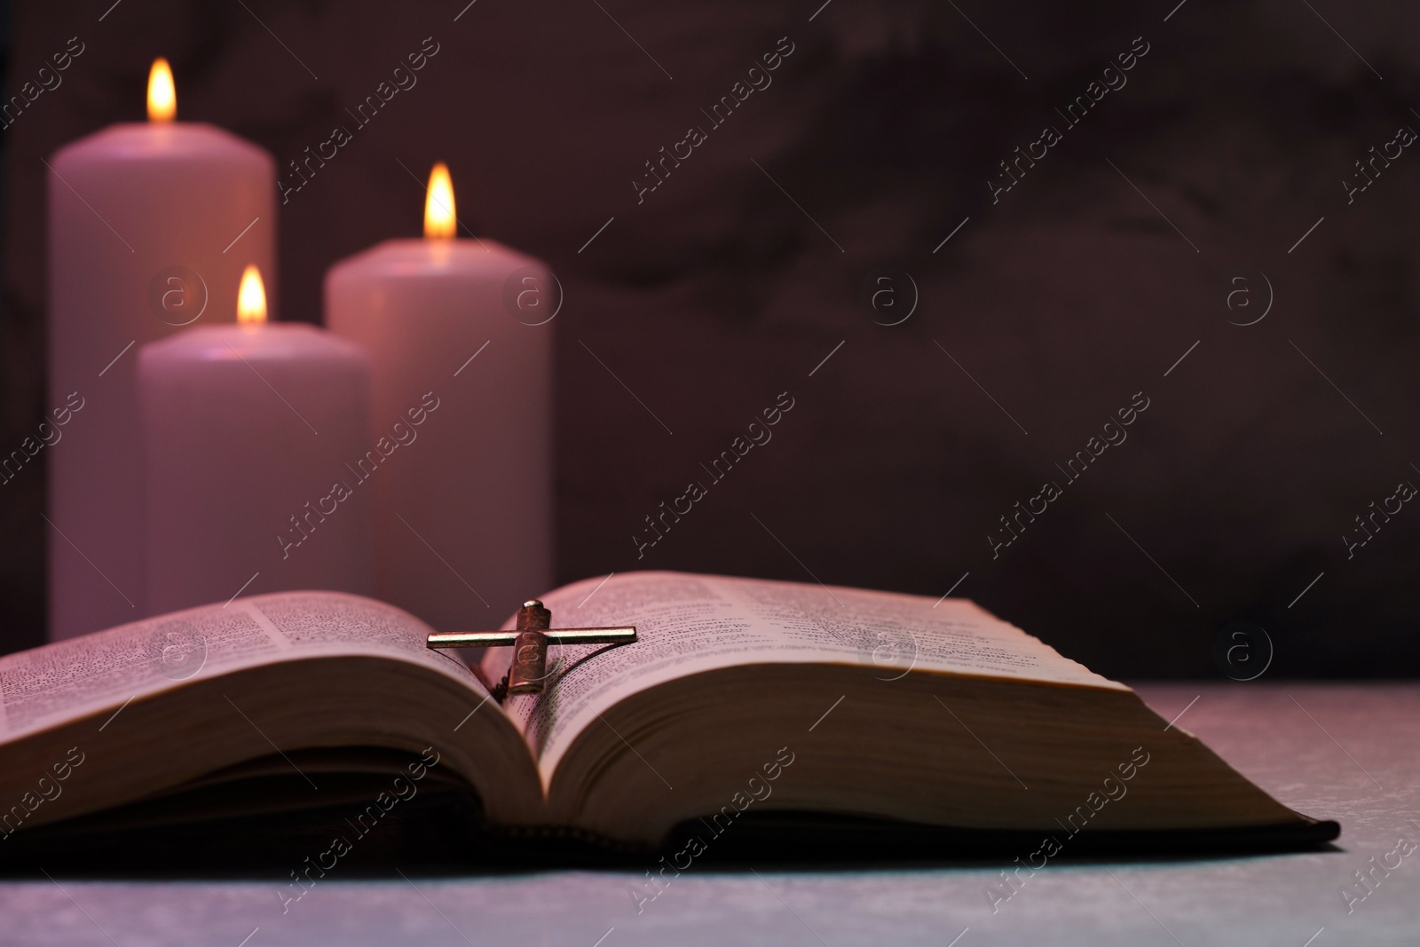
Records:
{"label": "right-hand printed page of the open book", "polygon": [[[552,592],[552,628],[635,625],[638,640],[548,649],[548,689],[504,704],[544,788],[575,735],[616,701],[699,672],[760,663],[839,663],[892,680],[916,672],[1129,690],[967,599],[680,572],[626,572]],[[511,622],[507,625],[511,628]],[[511,649],[490,649],[498,680]],[[581,660],[596,653],[588,660]]]}

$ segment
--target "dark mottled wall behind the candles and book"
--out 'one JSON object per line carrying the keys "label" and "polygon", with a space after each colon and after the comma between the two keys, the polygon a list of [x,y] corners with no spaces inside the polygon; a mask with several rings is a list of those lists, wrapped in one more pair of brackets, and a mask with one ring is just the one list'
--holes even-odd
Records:
{"label": "dark mottled wall behind the candles and book", "polygon": [[[464,223],[565,290],[561,579],[956,586],[1116,676],[1217,676],[1235,619],[1268,630],[1274,676],[1420,670],[1420,510],[1342,541],[1420,484],[1420,155],[1350,203],[1342,183],[1420,129],[1413,7],[111,3],[13,10],[7,94],[87,50],[6,132],[6,450],[47,409],[41,158],[141,119],[166,55],[182,118],[284,165],[433,37],[419,84],[281,207],[280,311],[317,321],[331,263],[416,234],[413,176],[447,160]],[[772,85],[638,203],[643,163],[780,37]],[[1056,112],[1145,44],[1078,126]],[[993,203],[1047,125],[1062,139]],[[772,440],[638,559],[643,517],[781,392]],[[1068,483],[1055,464],[1136,392],[1127,440]],[[1062,496],[993,558],[1047,480]],[[43,496],[41,464],[0,487],[7,649],[43,635]]]}

